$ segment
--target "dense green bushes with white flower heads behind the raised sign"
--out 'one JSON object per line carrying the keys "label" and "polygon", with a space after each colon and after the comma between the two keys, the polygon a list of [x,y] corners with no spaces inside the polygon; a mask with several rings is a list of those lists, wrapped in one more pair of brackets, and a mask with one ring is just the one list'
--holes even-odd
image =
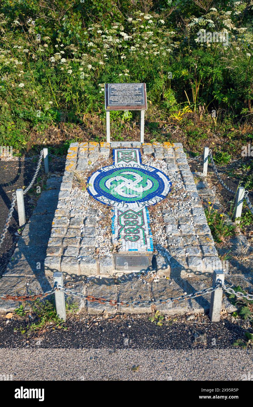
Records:
{"label": "dense green bushes with white flower heads behind the raised sign", "polygon": [[[252,121],[252,11],[248,0],[2,0],[0,144],[104,118],[106,82],[145,82],[149,105],[178,120],[187,106]],[[228,33],[228,46],[197,42],[201,30]]]}

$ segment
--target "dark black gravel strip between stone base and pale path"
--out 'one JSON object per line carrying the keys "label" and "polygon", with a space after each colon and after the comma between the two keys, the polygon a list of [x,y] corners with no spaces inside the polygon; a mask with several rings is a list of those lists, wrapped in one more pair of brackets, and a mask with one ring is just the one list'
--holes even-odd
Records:
{"label": "dark black gravel strip between stone base and pale path", "polygon": [[68,317],[66,330],[47,324],[45,330],[30,336],[27,332],[22,335],[20,328],[38,322],[37,316],[28,315],[26,320],[1,318],[0,348],[234,349],[234,341],[245,332],[228,319],[212,324],[206,315],[192,315],[190,321],[186,321],[187,316],[175,316],[162,326],[150,322],[149,316],[117,314],[104,319],[80,314],[79,318]]}

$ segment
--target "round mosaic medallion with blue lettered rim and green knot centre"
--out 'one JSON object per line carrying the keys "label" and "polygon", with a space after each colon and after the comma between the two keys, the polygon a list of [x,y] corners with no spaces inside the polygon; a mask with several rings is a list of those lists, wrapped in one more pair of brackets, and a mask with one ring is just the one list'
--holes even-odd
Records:
{"label": "round mosaic medallion with blue lettered rim and green knot centre", "polygon": [[103,167],[89,177],[87,186],[95,199],[113,206],[154,205],[170,188],[171,182],[162,171],[142,164]]}

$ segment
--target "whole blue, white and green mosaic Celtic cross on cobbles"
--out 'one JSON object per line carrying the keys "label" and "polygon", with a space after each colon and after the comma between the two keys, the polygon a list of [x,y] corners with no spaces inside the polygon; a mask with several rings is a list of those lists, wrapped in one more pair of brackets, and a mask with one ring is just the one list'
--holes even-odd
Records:
{"label": "whole blue, white and green mosaic Celtic cross on cobbles", "polygon": [[102,167],[88,179],[93,198],[113,206],[112,243],[119,252],[153,252],[148,206],[170,191],[169,178],[141,162],[139,149],[113,149],[113,165]]}

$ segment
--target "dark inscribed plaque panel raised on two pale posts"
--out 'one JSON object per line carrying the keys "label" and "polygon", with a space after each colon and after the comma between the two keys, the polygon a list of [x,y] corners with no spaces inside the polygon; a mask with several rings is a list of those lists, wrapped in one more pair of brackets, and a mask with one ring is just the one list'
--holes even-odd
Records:
{"label": "dark inscribed plaque panel raised on two pale posts", "polygon": [[105,108],[110,110],[147,110],[145,83],[106,83]]}

